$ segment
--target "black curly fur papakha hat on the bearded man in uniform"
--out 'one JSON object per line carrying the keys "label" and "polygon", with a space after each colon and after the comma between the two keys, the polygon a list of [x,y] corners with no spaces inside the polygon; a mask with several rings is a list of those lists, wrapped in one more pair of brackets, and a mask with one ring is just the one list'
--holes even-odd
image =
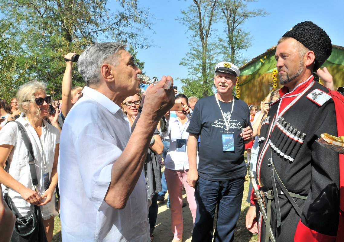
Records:
{"label": "black curly fur papakha hat on the bearded man in uniform", "polygon": [[329,35],[311,21],[298,23],[282,37],[293,38],[303,44],[308,50],[314,52],[314,71],[318,70],[332,53],[332,44]]}

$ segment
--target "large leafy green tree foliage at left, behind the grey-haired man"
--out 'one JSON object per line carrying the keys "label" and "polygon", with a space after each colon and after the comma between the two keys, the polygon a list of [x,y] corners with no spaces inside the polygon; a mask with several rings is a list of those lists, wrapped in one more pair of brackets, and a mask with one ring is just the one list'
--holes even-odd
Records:
{"label": "large leafy green tree foliage at left, behind the grey-haired man", "polygon": [[[152,25],[149,11],[139,7],[136,0],[116,0],[113,11],[107,3],[108,0],[0,0],[6,22],[6,26],[0,25],[0,33],[10,40],[1,42],[4,50],[10,46],[16,53],[11,59],[13,64],[0,69],[0,76],[11,76],[1,85],[17,90],[18,84],[37,79],[47,84],[47,94],[60,98],[63,57],[67,53],[80,54],[105,38],[149,47],[144,35],[144,30]],[[9,57],[12,52],[3,55]],[[77,68],[73,69],[72,80],[73,86],[84,86]]]}

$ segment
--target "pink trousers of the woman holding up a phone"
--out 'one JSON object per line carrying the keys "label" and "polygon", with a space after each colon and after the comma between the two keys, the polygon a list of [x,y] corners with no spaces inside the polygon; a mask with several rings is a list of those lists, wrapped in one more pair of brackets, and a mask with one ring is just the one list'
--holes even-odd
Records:
{"label": "pink trousers of the woman holding up a phone", "polygon": [[174,240],[180,240],[183,236],[183,191],[182,187],[186,191],[187,202],[192,214],[193,223],[196,218],[196,201],[195,201],[195,189],[190,187],[187,182],[187,170],[171,170],[165,168],[165,178],[167,183],[167,189],[170,195],[170,207],[171,207],[171,229],[174,234]]}

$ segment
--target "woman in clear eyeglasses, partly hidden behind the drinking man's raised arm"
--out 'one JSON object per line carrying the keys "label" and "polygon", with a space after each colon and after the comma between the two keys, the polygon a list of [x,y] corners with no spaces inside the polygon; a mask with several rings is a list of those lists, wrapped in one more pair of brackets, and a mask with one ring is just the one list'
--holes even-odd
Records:
{"label": "woman in clear eyeglasses, partly hidden behind the drinking man's raised arm", "polygon": [[[127,97],[122,102],[122,110],[127,115],[130,126],[134,123],[141,104],[141,94],[135,94],[134,96]],[[148,209],[149,218],[149,234],[151,241],[153,240],[153,231],[158,216],[158,194],[162,190],[161,186],[161,166],[159,163],[158,155],[162,154],[164,145],[161,141],[158,129],[155,129],[152,137],[146,161],[143,165],[143,173],[146,178],[148,196],[152,201],[152,204]],[[161,159],[161,158],[160,158]],[[144,209],[144,208],[142,208]]]}

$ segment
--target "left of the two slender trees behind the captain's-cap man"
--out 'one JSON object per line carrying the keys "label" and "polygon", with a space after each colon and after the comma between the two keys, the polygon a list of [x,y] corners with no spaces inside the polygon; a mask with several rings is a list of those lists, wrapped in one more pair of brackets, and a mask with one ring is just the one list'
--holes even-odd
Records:
{"label": "left of the two slender trees behind the captain's-cap man", "polygon": [[[212,42],[212,23],[216,22],[217,0],[194,0],[182,17],[178,18],[191,32],[190,52],[179,63],[189,67],[189,78],[181,79],[183,93],[191,96],[207,97],[213,94],[215,44]],[[216,64],[216,63],[215,63]]]}

